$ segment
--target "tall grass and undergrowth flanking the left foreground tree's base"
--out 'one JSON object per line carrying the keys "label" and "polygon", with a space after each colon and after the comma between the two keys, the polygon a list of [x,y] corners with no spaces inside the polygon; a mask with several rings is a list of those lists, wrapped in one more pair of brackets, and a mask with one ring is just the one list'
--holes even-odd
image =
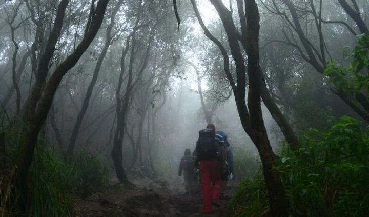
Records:
{"label": "tall grass and undergrowth flanking the left foreground tree's base", "polygon": [[[16,172],[15,162],[19,153],[19,144],[14,123],[8,122],[1,127],[5,135],[5,153],[0,156],[0,215],[19,215],[17,200],[19,195],[12,195],[11,187]],[[34,216],[70,216],[72,215],[72,195],[87,196],[103,189],[107,184],[107,171],[98,157],[88,153],[78,153],[71,164],[63,162],[49,147],[37,144],[31,165],[29,181],[30,212]],[[12,210],[12,211],[10,211]]]}

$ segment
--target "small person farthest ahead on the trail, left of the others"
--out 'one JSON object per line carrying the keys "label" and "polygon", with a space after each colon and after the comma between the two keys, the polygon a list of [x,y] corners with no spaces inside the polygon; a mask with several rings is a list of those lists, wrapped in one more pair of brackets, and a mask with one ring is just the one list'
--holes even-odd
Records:
{"label": "small person farthest ahead on the trail, left of the others", "polygon": [[185,179],[185,190],[187,194],[195,193],[194,192],[194,169],[195,169],[195,160],[191,155],[191,150],[187,148],[185,150],[185,154],[180,160],[178,175],[182,175]]}

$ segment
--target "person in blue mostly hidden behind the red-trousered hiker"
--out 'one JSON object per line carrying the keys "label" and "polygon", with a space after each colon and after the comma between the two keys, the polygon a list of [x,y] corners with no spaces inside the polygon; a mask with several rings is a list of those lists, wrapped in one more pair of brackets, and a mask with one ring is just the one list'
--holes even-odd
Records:
{"label": "person in blue mostly hidden behind the red-trousered hiker", "polygon": [[226,155],[227,155],[227,170],[221,173],[221,188],[219,193],[219,199],[228,199],[229,196],[224,194],[224,191],[226,191],[227,182],[228,180],[234,180],[234,171],[233,171],[233,153],[230,148],[230,143],[228,142],[228,135],[227,133],[223,131],[217,131],[217,134],[221,135],[223,137],[224,145],[226,146]]}

